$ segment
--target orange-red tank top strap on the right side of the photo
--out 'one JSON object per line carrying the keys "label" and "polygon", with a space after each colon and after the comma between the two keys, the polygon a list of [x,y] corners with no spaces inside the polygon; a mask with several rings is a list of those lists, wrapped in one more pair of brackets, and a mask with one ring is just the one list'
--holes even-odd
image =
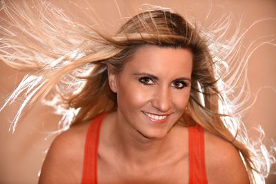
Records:
{"label": "orange-red tank top strap on the right side of the photo", "polygon": [[204,153],[204,129],[200,125],[188,127],[189,184],[207,184]]}

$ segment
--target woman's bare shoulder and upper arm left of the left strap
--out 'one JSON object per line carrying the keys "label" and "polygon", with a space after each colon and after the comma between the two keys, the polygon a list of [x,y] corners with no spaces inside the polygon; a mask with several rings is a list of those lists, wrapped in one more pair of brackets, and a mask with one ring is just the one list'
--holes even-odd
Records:
{"label": "woman's bare shoulder and upper arm left of the left strap", "polygon": [[75,125],[52,142],[39,183],[81,183],[84,145],[89,123]]}

